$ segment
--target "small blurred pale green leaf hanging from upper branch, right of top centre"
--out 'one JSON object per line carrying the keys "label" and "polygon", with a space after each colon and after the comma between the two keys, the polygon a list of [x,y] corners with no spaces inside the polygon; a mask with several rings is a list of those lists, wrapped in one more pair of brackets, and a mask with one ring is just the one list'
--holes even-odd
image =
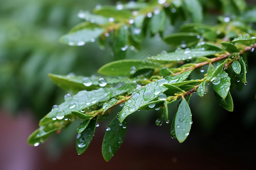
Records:
{"label": "small blurred pale green leaf hanging from upper branch, right of top centre", "polygon": [[163,31],[166,26],[166,13],[164,10],[161,10],[159,14],[154,14],[150,19],[149,27],[153,35]]}

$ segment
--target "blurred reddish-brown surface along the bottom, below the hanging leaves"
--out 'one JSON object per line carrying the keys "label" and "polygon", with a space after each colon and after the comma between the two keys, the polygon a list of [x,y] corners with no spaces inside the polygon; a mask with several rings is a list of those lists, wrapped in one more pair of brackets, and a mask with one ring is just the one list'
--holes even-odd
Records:
{"label": "blurred reddish-brown surface along the bottom, below the hanging leaves", "polygon": [[[59,158],[46,154],[46,145],[28,146],[28,135],[37,128],[31,113],[10,117],[0,114],[0,169],[254,169],[250,153],[244,143],[233,138],[215,137],[213,142],[195,140],[189,136],[183,144],[172,140],[162,127],[130,127],[125,142],[106,163],[101,156],[104,131],[98,128],[92,143],[84,154],[78,156],[75,144],[65,148]],[[192,131],[193,133],[193,131]],[[249,137],[250,140],[250,137]],[[51,142],[51,141],[47,141]],[[254,146],[253,141],[246,142]],[[243,149],[244,148],[244,149]],[[255,148],[251,148],[251,152]]]}

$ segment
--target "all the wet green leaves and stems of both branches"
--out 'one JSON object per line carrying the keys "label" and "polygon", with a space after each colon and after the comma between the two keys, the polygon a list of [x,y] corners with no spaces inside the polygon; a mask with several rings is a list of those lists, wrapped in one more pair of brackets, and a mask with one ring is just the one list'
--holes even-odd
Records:
{"label": "all the wet green leaves and stems of both branches", "polygon": [[[210,3],[214,6],[221,3],[226,13],[217,18],[215,25],[202,24],[204,12],[209,14],[209,3],[197,0],[138,1],[97,6],[94,14],[81,11],[79,17],[85,22],[76,25],[60,41],[81,46],[97,39],[103,47],[108,42],[117,61],[102,66],[98,70],[103,75],[100,77],[50,74],[57,86],[72,95],[65,95],[64,103],[53,105],[28,143],[37,146],[79,118],[76,150],[82,154],[92,140],[97,121],[105,120],[106,111],[123,105],[106,127],[102,155],[109,161],[125,138],[130,114],[162,109],[162,115],[155,122],[160,126],[163,120],[170,121],[168,105],[175,101],[179,103],[170,134],[182,143],[192,125],[189,99],[195,92],[203,97],[207,84],[211,84],[221,107],[232,112],[230,86],[237,79],[247,84],[246,53],[256,47],[256,31],[249,24],[256,22],[250,17],[255,10],[245,10],[242,0]],[[168,31],[172,27],[179,27],[180,32]],[[125,59],[128,48],[141,49],[141,42],[147,35],[159,35],[175,50],[142,60]],[[192,79],[193,72],[205,65],[208,65],[207,73]]]}

